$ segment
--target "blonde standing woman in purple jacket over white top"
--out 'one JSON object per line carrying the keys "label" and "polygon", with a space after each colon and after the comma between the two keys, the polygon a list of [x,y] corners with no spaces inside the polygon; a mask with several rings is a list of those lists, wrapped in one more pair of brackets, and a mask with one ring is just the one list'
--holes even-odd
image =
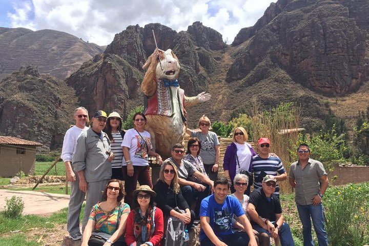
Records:
{"label": "blonde standing woman in purple jacket over white top", "polygon": [[[235,192],[233,179],[240,170],[252,172],[252,157],[256,155],[252,146],[247,142],[249,135],[243,127],[237,127],[233,131],[233,142],[227,146],[224,153],[223,170],[226,178],[231,182],[231,193]],[[245,194],[250,195],[249,183]]]}

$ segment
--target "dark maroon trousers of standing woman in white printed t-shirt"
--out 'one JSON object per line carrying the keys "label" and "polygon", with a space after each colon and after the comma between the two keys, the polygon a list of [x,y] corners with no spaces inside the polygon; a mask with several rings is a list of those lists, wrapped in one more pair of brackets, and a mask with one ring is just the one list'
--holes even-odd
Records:
{"label": "dark maroon trousers of standing woman in white printed t-shirt", "polygon": [[133,176],[130,177],[127,174],[127,166],[122,167],[123,177],[125,179],[125,191],[127,195],[125,196],[125,202],[131,206],[133,201],[133,191],[136,190],[137,181],[140,186],[148,185],[152,189],[152,181],[150,177],[150,167],[149,166],[133,166]]}

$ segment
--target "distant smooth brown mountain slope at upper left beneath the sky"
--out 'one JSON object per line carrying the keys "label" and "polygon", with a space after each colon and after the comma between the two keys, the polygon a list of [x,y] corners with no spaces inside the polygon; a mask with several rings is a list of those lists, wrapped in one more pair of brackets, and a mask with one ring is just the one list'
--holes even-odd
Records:
{"label": "distant smooth brown mountain slope at upper left beneath the sky", "polygon": [[65,32],[0,27],[0,79],[29,65],[65,79],[102,52],[103,47]]}

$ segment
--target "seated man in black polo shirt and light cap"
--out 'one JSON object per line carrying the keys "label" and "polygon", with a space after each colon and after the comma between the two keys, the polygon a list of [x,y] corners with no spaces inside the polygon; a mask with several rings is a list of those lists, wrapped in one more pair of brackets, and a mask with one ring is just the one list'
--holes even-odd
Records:
{"label": "seated man in black polo shirt and light cap", "polygon": [[279,237],[282,246],[295,245],[291,229],[284,222],[279,198],[273,194],[277,179],[273,175],[265,175],[261,189],[254,190],[250,195],[248,214],[251,226],[259,232],[260,243],[265,239]]}

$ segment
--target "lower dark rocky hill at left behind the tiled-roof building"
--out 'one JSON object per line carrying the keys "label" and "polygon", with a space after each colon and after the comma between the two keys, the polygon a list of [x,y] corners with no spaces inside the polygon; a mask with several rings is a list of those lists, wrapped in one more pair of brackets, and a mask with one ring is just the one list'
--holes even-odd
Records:
{"label": "lower dark rocky hill at left behind the tiled-roof building", "polygon": [[22,67],[0,82],[0,134],[60,148],[73,124],[75,91],[65,81]]}

